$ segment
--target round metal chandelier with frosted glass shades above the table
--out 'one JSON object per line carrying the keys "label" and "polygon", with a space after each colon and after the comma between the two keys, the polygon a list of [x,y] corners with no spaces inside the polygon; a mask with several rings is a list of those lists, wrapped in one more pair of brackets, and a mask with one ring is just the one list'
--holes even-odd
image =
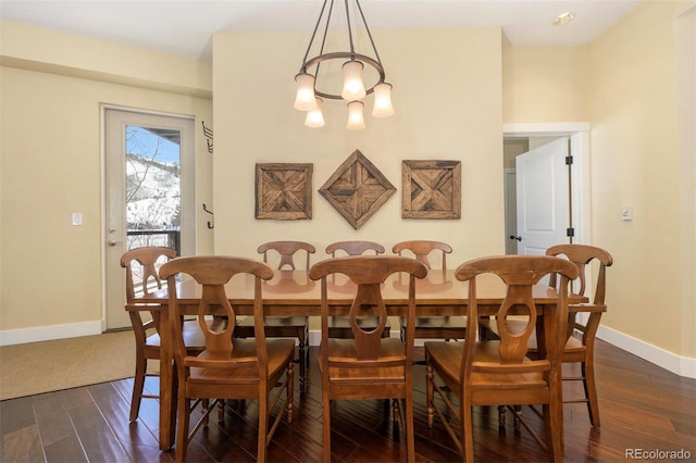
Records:
{"label": "round metal chandelier with frosted glass shades above the table", "polygon": [[[319,13],[314,32],[307,46],[307,52],[304,59],[300,65],[299,73],[295,76],[297,82],[297,95],[295,98],[295,109],[307,112],[304,125],[308,127],[323,127],[324,115],[322,114],[322,104],[324,99],[330,100],[344,100],[348,107],[348,123],[346,128],[350,130],[360,130],[365,128],[365,122],[362,115],[364,102],[362,101],[366,95],[374,93],[374,107],[372,115],[374,117],[387,117],[394,114],[394,108],[391,107],[391,85],[385,82],[384,67],[377,53],[377,48],[372,39],[372,34],[365,22],[365,16],[362,13],[362,8],[358,0],[343,0],[346,9],[346,26],[348,34],[349,51],[326,51],[327,33],[332,21],[332,15],[335,17],[338,15],[334,11],[335,0],[324,0],[322,10]],[[340,0],[339,0],[340,2]],[[352,11],[349,8],[349,3],[352,7]],[[326,9],[328,7],[328,9]],[[352,26],[355,21],[351,22],[351,13],[353,20],[359,16],[364,25],[364,32],[372,47],[373,57],[361,54],[356,52],[355,42],[357,41],[357,29],[353,30]],[[318,32],[320,26],[323,27],[323,35],[321,41],[319,41]],[[322,34],[322,33],[320,33]],[[315,39],[319,43],[319,54],[313,58],[310,57],[310,52],[318,46],[314,45]],[[331,67],[330,62],[336,63],[337,60],[343,61],[341,74],[343,74],[343,89],[338,93],[338,88],[335,90],[327,90],[324,86],[324,80],[331,80]],[[321,74],[320,79],[320,66],[324,63],[324,72]],[[372,80],[376,80],[372,86],[365,88],[363,82],[363,72],[370,71]],[[326,77],[326,78],[323,78]],[[321,85],[319,85],[321,82]],[[323,89],[323,90],[322,90]]]}

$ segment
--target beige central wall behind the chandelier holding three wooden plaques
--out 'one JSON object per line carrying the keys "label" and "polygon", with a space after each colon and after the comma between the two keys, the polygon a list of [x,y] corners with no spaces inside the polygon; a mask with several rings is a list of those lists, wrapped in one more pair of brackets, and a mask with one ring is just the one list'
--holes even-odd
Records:
{"label": "beige central wall behind the chandelier holding three wooden plaques", "polygon": [[[307,34],[214,36],[215,252],[258,256],[264,241],[299,239],[314,243],[316,262],[333,241],[369,239],[389,249],[419,238],[451,243],[452,263],[504,252],[500,29],[374,36],[394,83],[396,114],[374,120],[366,110],[368,127],[358,133],[345,129],[343,103],[324,103],[320,129],[304,127],[303,113],[293,109]],[[397,187],[358,230],[316,191],[356,149]],[[461,161],[461,220],[401,218],[401,161],[437,159]],[[258,162],[314,165],[311,221],[254,220]]]}

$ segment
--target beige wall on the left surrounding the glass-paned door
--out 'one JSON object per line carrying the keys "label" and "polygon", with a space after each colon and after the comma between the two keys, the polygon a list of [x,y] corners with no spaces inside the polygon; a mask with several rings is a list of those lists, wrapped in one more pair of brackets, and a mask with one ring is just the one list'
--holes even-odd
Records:
{"label": "beige wall on the left surrounding the glass-paned door", "polygon": [[[210,71],[207,85],[198,78],[169,77],[174,64],[179,76],[189,68],[198,76],[198,62],[5,23],[1,29],[0,329],[7,339],[11,330],[103,318],[100,107],[194,115],[197,202],[203,202],[212,195],[207,182],[212,157],[198,127],[201,120],[212,122],[212,103],[190,96],[210,96]],[[77,46],[83,42],[86,47]],[[47,49],[50,53],[45,54]],[[124,62],[128,60],[134,67]],[[158,60],[161,75],[152,71]],[[142,83],[132,77],[136,63],[144,62],[152,68],[145,73],[146,88],[114,83],[117,76],[102,73],[123,63],[130,83]],[[158,79],[167,91],[153,89]],[[177,91],[170,91],[174,87]],[[77,211],[84,214],[82,227],[71,225],[71,213]],[[210,252],[207,220],[207,214],[198,218],[198,247]],[[60,328],[53,331],[61,336]]]}

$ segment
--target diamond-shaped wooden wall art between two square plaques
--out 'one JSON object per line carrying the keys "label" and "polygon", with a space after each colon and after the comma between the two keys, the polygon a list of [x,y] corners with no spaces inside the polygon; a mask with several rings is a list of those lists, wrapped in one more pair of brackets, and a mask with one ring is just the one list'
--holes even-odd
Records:
{"label": "diamond-shaped wooden wall art between two square plaques", "polygon": [[355,229],[395,191],[394,185],[360,150],[353,151],[319,190]]}

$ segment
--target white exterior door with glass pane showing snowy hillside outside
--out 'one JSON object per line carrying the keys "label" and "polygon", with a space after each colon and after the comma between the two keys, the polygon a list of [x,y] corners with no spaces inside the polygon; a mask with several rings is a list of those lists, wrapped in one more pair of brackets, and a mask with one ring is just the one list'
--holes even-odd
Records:
{"label": "white exterior door with glass pane showing snowy hillside outside", "polygon": [[105,301],[107,329],[130,326],[121,255],[141,246],[194,254],[194,121],[107,109]]}

